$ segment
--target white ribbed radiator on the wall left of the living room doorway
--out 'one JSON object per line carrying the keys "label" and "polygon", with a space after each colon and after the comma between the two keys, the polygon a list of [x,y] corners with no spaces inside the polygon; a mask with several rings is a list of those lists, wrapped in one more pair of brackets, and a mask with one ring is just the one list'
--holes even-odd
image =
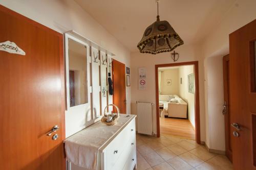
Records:
{"label": "white ribbed radiator on the wall left of the living room doorway", "polygon": [[137,102],[138,133],[152,135],[152,103]]}

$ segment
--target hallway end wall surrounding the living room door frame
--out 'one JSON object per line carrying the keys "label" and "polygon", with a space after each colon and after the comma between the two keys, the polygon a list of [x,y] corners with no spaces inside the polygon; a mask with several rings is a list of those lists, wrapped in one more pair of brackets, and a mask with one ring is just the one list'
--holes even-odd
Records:
{"label": "hallway end wall surrounding the living room door frame", "polygon": [[[199,61],[199,95],[200,95],[200,122],[201,140],[205,141],[205,117],[204,117],[204,82],[203,82],[203,61],[199,58],[201,51],[194,45],[181,45],[175,49],[180,58],[177,62]],[[136,101],[151,102],[156,104],[156,80],[155,65],[174,63],[169,53],[157,55],[132,53],[131,54],[131,79],[132,79],[132,114],[137,114]],[[138,68],[146,67],[147,69],[147,86],[145,90],[138,89]],[[153,131],[157,133],[156,127],[156,108],[153,115]]]}

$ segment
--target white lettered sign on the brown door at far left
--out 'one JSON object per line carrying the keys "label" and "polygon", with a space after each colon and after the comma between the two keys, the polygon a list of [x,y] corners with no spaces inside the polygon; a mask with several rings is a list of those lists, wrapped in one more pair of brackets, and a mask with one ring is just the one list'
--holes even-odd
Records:
{"label": "white lettered sign on the brown door at far left", "polygon": [[11,41],[0,42],[0,50],[12,54],[26,55],[21,48]]}

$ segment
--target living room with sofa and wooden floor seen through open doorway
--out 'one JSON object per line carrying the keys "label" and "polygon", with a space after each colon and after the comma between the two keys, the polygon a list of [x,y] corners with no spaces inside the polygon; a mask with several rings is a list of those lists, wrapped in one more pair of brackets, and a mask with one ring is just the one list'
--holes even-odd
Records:
{"label": "living room with sofa and wooden floor seen through open doorway", "polygon": [[195,140],[194,65],[159,67],[160,134]]}

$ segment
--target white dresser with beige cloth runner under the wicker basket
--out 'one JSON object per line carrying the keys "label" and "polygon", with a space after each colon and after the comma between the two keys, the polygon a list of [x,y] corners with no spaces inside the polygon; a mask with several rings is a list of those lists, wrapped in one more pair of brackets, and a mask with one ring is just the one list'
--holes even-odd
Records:
{"label": "white dresser with beige cloth runner under the wicker basket", "polygon": [[[135,117],[136,115],[120,114],[118,123],[114,126],[109,127],[101,122],[97,122],[89,128],[67,138],[65,143],[68,145],[68,147],[66,146],[68,169],[84,170],[91,168],[88,167],[88,163],[84,164],[84,162],[86,162],[86,159],[94,160],[91,158],[91,155],[94,155],[91,151],[92,148],[97,150],[97,166],[94,166],[94,169],[134,169],[136,166]],[[83,137],[84,140],[82,140]],[[76,156],[80,158],[76,158]]]}

